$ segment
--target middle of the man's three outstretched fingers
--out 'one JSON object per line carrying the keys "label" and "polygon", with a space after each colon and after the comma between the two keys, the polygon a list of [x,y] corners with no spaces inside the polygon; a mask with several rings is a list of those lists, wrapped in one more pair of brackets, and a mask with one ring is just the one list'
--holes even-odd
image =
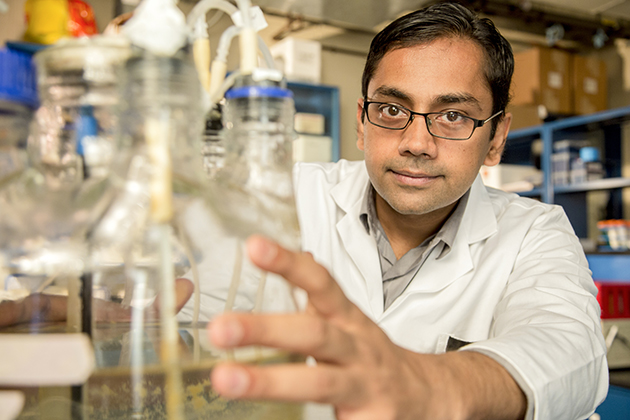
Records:
{"label": "middle of the man's three outstretched fingers", "polygon": [[263,345],[346,364],[355,359],[354,339],[321,317],[300,314],[250,315],[229,313],[208,326],[214,345],[233,348]]}

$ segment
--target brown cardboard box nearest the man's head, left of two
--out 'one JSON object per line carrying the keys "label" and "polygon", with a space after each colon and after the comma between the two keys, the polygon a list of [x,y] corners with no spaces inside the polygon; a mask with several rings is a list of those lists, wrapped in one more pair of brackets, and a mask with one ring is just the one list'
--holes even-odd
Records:
{"label": "brown cardboard box nearest the man's head, left of two", "polygon": [[542,105],[549,114],[573,113],[571,54],[533,47],[514,55],[512,103]]}

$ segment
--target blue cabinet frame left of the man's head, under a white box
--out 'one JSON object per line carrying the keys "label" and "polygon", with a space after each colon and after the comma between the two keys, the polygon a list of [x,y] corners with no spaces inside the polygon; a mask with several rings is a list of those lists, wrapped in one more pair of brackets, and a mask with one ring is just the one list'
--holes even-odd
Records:
{"label": "blue cabinet frame left of the man's head, under a white box", "polygon": [[324,135],[332,139],[332,160],[338,161],[341,151],[339,88],[301,82],[288,82],[287,87],[293,92],[296,112],[308,112],[324,116]]}

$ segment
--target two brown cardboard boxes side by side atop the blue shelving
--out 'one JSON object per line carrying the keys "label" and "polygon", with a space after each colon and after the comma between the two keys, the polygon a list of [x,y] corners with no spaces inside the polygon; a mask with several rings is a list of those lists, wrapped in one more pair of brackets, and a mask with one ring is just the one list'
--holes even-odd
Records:
{"label": "two brown cardboard boxes side by side atop the blue shelving", "polygon": [[584,115],[607,108],[606,63],[557,48],[533,47],[514,55],[512,129],[549,116]]}

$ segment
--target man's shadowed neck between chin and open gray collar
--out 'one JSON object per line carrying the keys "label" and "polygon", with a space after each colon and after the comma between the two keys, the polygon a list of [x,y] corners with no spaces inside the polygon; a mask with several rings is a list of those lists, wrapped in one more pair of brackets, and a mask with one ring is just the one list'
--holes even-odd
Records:
{"label": "man's shadowed neck between chin and open gray collar", "polygon": [[451,215],[458,201],[426,214],[400,214],[375,191],[375,207],[396,259],[437,233]]}

